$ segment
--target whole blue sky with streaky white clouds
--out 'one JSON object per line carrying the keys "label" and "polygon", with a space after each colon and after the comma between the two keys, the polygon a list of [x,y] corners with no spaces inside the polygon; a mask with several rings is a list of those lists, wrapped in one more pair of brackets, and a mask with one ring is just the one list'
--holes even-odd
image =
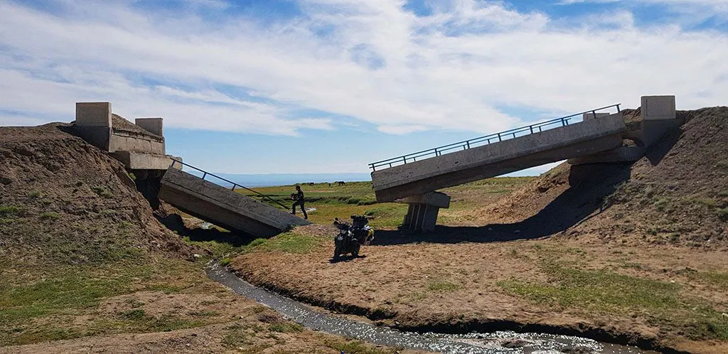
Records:
{"label": "whole blue sky with streaky white clouds", "polygon": [[726,58],[728,0],[0,0],[0,125],[109,101],[205,170],[363,173],[641,95],[726,105]]}

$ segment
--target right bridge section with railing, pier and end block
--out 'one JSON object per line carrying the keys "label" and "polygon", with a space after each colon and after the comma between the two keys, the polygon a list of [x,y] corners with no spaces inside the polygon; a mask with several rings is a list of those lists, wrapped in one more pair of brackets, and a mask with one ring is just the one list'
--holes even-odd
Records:
{"label": "right bridge section with railing, pier and end block", "polygon": [[[616,110],[614,113],[604,110]],[[450,197],[435,192],[472,181],[569,160],[572,164],[636,161],[646,146],[666,130],[678,127],[674,96],[642,98],[642,130],[628,131],[620,105],[451,143],[373,162],[370,168],[378,202],[409,205],[403,226],[430,231],[440,208]],[[581,122],[571,122],[582,119]],[[623,138],[638,138],[644,146],[622,146]]]}

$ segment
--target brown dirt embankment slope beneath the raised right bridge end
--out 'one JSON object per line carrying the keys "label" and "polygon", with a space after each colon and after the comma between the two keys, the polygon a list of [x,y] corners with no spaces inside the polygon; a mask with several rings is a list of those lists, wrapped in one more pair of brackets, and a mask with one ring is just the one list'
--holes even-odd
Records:
{"label": "brown dirt embankment slope beneath the raised right bridge end", "polygon": [[[639,121],[638,110],[628,113]],[[681,131],[635,164],[563,164],[478,215],[523,221],[541,236],[728,247],[728,107],[679,114],[688,120]]]}

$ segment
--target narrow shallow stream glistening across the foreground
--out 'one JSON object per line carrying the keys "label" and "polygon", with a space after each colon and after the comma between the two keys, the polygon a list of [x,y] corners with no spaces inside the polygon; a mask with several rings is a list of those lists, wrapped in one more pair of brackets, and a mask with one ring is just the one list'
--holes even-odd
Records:
{"label": "narrow shallow stream glistening across the foreground", "polygon": [[285,296],[258,288],[229,272],[224,267],[211,265],[207,276],[231,288],[236,294],[253,299],[271,307],[290,320],[315,331],[337,334],[359,339],[375,345],[403,347],[436,353],[508,353],[508,354],[547,354],[547,353],[604,353],[604,354],[652,354],[636,347],[612,345],[592,339],[560,336],[554,334],[515,333],[498,331],[494,333],[470,334],[419,334],[403,332],[387,327],[373,326],[368,323],[321,312],[306,304],[288,299]]}

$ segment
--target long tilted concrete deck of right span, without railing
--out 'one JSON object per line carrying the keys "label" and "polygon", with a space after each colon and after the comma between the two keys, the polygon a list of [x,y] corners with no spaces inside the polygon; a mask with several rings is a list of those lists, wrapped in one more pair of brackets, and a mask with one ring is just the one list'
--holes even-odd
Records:
{"label": "long tilted concrete deck of right span, without railing", "polygon": [[398,165],[371,174],[378,202],[500,176],[622,145],[621,113],[499,143]]}

